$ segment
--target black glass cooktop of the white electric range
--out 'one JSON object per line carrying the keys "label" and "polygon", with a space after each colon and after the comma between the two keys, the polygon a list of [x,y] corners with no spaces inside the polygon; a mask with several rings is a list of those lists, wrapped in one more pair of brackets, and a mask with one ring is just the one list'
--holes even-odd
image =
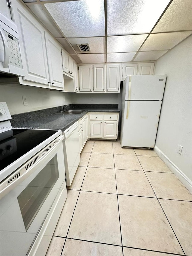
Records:
{"label": "black glass cooktop of the white electric range", "polygon": [[39,129],[10,129],[0,133],[0,171],[56,132]]}

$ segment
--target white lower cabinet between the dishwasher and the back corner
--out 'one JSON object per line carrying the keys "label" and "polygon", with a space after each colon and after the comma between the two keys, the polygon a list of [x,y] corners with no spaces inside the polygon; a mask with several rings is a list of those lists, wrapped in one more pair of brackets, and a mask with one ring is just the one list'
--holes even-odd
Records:
{"label": "white lower cabinet between the dishwasher and the back corner", "polygon": [[78,124],[79,124],[79,130],[78,130],[79,152],[81,152],[88,139],[88,115],[80,119],[78,121]]}

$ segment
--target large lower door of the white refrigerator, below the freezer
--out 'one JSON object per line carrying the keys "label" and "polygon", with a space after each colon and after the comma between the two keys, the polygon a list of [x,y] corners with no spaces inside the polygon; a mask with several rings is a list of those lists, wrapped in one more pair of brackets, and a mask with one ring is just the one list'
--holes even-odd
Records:
{"label": "large lower door of the white refrigerator, below the freezer", "polygon": [[[122,147],[154,148],[162,101],[125,101],[120,141]],[[128,111],[128,119],[126,119]]]}

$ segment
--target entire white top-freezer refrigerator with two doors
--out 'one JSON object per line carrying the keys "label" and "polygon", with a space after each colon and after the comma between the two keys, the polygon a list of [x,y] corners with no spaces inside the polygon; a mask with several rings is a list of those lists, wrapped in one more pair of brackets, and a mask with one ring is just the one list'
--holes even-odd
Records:
{"label": "entire white top-freezer refrigerator with two doors", "polygon": [[154,148],[167,75],[133,75],[123,82],[122,147]]}

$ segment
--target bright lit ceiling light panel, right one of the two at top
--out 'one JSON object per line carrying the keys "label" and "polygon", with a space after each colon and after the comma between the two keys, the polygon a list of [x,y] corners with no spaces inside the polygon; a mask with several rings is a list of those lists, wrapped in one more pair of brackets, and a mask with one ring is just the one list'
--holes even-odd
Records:
{"label": "bright lit ceiling light panel, right one of the two at top", "polygon": [[149,33],[170,0],[107,0],[107,35]]}

